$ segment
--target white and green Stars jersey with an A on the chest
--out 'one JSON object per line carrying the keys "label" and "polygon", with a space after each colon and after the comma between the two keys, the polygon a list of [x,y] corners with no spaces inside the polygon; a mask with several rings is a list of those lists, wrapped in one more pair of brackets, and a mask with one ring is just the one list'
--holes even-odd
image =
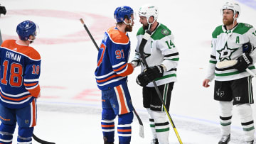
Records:
{"label": "white and green Stars jersey with an A on the chest", "polygon": [[[242,55],[242,44],[250,42],[252,48],[256,46],[255,28],[246,23],[238,23],[232,30],[226,30],[224,26],[218,26],[213,31],[212,51],[210,54],[210,64],[206,79],[218,81],[229,81],[248,77],[248,72],[238,72],[233,67],[218,69],[217,62],[224,60],[237,60]],[[252,57],[256,62],[256,55]],[[256,72],[254,65],[248,67],[252,72]]]}

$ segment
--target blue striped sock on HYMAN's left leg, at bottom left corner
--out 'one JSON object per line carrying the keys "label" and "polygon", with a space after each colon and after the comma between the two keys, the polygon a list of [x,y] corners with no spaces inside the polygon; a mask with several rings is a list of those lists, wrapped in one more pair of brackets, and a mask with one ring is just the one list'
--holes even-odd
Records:
{"label": "blue striped sock on HYMAN's left leg, at bottom left corner", "polygon": [[13,139],[13,134],[15,130],[15,126],[6,125],[1,123],[0,125],[0,143],[3,144],[11,144]]}

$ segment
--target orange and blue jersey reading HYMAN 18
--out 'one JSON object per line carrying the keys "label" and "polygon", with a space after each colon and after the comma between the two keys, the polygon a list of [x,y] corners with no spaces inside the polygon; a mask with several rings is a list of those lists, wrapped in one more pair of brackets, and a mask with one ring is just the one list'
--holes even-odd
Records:
{"label": "orange and blue jersey reading HYMAN 18", "polygon": [[11,109],[30,104],[40,92],[39,53],[16,40],[5,40],[0,47],[0,65],[1,104]]}

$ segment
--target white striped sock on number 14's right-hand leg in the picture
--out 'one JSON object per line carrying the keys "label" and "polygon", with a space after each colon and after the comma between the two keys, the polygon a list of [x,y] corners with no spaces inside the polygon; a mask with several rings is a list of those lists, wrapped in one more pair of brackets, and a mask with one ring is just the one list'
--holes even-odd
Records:
{"label": "white striped sock on number 14's right-hand leg in the picture", "polygon": [[169,143],[169,121],[166,118],[164,111],[152,111],[152,116],[155,122],[156,135],[159,143]]}

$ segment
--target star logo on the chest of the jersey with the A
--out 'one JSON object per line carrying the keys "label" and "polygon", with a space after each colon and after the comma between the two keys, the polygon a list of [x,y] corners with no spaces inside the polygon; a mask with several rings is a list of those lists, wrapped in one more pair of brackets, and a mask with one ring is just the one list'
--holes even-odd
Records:
{"label": "star logo on the chest of the jersey with the A", "polygon": [[238,50],[238,48],[228,48],[228,43],[225,43],[225,46],[223,49],[221,50],[217,50],[217,52],[220,54],[219,60],[220,62],[223,60],[231,60],[231,55],[233,54],[233,52],[235,52],[235,50]]}

